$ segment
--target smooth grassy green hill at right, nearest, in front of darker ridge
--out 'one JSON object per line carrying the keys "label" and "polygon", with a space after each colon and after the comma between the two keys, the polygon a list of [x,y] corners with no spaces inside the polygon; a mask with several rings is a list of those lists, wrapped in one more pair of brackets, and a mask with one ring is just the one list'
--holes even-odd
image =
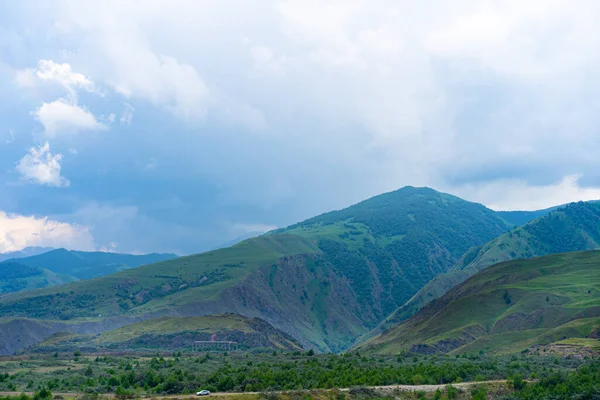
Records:
{"label": "smooth grassy green hill at right, nearest, in front of darker ridge", "polygon": [[563,253],[486,268],[357,349],[509,353],[599,327],[600,251]]}

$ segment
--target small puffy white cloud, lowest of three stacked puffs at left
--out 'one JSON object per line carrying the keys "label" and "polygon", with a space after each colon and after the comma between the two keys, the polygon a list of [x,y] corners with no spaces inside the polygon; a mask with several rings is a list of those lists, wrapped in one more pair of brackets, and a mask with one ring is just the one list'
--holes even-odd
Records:
{"label": "small puffy white cloud, lowest of three stacked puffs at left", "polygon": [[22,179],[40,185],[67,187],[69,180],[60,175],[62,154],[52,154],[48,142],[32,147],[17,163]]}

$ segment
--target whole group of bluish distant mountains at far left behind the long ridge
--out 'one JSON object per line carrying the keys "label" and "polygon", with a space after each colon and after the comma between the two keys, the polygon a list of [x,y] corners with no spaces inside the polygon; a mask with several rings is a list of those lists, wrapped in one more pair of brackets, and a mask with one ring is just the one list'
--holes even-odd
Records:
{"label": "whole group of bluish distant mountains at far left behind the long ridge", "polygon": [[174,254],[131,255],[65,249],[27,248],[11,255],[35,254],[0,262],[0,294],[44,288],[175,258]]}

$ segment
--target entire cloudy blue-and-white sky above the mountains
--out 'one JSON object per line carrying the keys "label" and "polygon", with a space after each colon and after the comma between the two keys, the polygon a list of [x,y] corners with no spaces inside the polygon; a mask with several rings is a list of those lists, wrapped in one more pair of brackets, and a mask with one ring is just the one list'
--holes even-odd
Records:
{"label": "entire cloudy blue-and-white sky above the mountains", "polygon": [[600,199],[593,0],[0,2],[0,252],[191,254],[405,185]]}

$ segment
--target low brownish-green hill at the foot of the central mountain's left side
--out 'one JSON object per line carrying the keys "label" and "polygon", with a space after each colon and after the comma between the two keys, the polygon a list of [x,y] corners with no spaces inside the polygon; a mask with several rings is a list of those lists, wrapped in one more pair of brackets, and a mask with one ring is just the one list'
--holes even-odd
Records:
{"label": "low brownish-green hill at the foot of the central mountain's left side", "polygon": [[261,319],[223,314],[161,317],[97,335],[57,333],[29,351],[191,350],[194,341],[233,341],[242,349],[302,349],[292,337]]}

